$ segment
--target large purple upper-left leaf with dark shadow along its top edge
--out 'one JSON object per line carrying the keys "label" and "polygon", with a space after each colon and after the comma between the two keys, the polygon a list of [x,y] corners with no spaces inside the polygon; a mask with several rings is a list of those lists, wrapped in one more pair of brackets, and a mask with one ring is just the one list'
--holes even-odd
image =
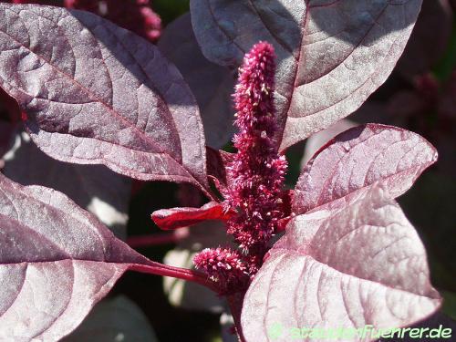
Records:
{"label": "large purple upper-left leaf with dark shadow along its top edge", "polygon": [[0,51],[0,87],[48,155],[206,185],[196,101],[157,47],[88,12],[0,4]]}

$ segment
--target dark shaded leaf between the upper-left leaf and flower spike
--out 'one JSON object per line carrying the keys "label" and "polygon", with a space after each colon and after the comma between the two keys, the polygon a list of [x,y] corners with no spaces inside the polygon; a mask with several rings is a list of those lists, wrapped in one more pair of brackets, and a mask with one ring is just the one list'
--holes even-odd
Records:
{"label": "dark shaded leaf between the upper-left leaf and flower spike", "polygon": [[193,34],[190,14],[174,20],[163,31],[158,47],[181,71],[202,114],[206,144],[220,149],[234,133],[233,74],[203,55]]}

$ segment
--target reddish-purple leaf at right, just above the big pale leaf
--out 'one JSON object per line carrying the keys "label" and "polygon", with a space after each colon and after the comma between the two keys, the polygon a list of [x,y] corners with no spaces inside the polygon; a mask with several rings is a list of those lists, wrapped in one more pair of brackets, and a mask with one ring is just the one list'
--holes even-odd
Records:
{"label": "reddish-purple leaf at right, just above the big pale leaf", "polygon": [[408,130],[378,124],[346,130],[307,163],[295,187],[293,212],[350,202],[355,192],[376,182],[397,197],[435,161],[432,145]]}

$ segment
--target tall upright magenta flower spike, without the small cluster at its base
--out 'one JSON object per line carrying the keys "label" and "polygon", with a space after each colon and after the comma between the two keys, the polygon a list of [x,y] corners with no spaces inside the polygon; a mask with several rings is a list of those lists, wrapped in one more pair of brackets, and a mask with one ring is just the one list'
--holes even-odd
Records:
{"label": "tall upright magenta flower spike, without the small cluster at its base", "polygon": [[238,151],[227,165],[231,184],[223,193],[224,204],[237,211],[228,222],[228,233],[247,254],[262,256],[284,218],[281,193],[287,168],[274,140],[274,47],[266,42],[254,45],[239,71],[234,94],[239,133],[233,139]]}

